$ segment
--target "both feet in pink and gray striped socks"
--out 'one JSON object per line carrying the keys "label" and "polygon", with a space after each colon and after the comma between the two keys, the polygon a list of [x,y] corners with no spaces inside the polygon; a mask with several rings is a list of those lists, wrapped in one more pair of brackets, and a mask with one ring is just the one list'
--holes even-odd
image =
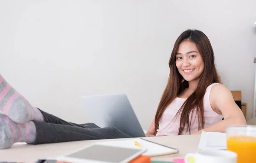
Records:
{"label": "both feet in pink and gray striped socks", "polygon": [[32,143],[35,125],[31,120],[44,121],[44,116],[20,95],[0,75],[0,149],[10,148],[13,143]]}

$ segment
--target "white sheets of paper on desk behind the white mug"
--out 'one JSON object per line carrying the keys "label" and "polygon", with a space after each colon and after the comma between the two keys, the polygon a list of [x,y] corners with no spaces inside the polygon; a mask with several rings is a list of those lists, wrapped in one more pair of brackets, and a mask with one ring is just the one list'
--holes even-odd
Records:
{"label": "white sheets of paper on desk behind the white mug", "polygon": [[202,132],[198,149],[219,150],[227,149],[226,133]]}

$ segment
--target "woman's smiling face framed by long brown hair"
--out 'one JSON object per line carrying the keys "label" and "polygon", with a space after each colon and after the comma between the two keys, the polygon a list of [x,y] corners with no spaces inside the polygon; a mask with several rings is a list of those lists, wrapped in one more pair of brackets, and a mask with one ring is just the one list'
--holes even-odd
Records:
{"label": "woman's smiling face framed by long brown hair", "polygon": [[186,81],[198,80],[204,71],[204,61],[195,43],[180,43],[176,54],[176,67]]}

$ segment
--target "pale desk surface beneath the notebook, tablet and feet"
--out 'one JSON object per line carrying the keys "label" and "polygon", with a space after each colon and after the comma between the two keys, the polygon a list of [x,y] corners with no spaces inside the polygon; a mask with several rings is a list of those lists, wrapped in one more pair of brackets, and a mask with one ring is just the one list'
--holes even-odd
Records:
{"label": "pale desk surface beneath the notebook, tablet and feet", "polygon": [[[151,158],[151,160],[172,161],[173,158],[183,158],[189,152],[196,152],[198,150],[200,135],[146,137],[145,139],[177,148],[179,150],[179,154]],[[0,161],[35,163],[39,158],[58,157],[99,141],[109,141],[109,139],[40,145],[15,144],[10,149],[0,150]]]}

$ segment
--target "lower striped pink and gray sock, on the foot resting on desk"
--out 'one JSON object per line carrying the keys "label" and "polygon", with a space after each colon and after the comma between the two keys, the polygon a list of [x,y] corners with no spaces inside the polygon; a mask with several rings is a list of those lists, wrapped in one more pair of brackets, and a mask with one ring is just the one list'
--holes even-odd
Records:
{"label": "lower striped pink and gray sock, on the foot resting on desk", "polygon": [[34,143],[35,136],[35,124],[32,121],[15,123],[6,115],[0,114],[0,149],[10,148],[16,142]]}

